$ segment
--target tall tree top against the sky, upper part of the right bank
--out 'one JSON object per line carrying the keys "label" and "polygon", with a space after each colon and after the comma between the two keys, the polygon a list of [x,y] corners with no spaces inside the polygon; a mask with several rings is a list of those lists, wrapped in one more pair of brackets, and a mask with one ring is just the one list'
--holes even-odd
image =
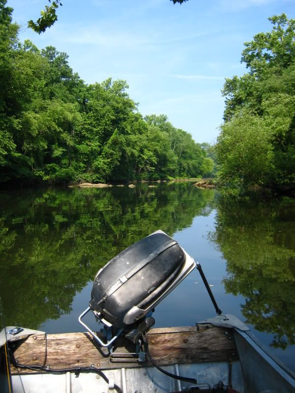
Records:
{"label": "tall tree top against the sky, upper part of the right bank", "polygon": [[285,14],[268,18],[272,30],[256,34],[252,41],[245,42],[241,62],[245,62],[249,73],[238,78],[226,79],[222,90],[225,96],[225,120],[230,120],[242,107],[262,113],[260,105],[266,92],[264,81],[274,79],[295,61],[295,19]]}

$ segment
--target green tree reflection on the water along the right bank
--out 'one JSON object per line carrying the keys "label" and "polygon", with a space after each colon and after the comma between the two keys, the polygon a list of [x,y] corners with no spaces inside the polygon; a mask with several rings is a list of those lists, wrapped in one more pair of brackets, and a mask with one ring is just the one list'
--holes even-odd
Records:
{"label": "green tree reflection on the water along the right bank", "polygon": [[216,242],[227,261],[227,293],[241,294],[246,323],[274,335],[274,347],[295,344],[295,203],[220,199]]}

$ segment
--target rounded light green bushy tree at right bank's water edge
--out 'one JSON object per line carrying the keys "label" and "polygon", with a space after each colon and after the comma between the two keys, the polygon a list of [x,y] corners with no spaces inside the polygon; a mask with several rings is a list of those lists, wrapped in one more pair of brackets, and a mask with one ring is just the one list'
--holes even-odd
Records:
{"label": "rounded light green bushy tree at right bank's water edge", "polygon": [[241,112],[225,123],[216,152],[221,163],[217,179],[233,193],[269,183],[274,168],[273,148],[268,127],[259,116]]}

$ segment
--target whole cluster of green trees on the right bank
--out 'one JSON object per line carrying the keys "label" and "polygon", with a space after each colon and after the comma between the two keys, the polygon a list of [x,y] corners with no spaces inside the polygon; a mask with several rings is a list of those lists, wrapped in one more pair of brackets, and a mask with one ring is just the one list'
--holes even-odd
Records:
{"label": "whole cluster of green trees on the right bank", "polygon": [[270,32],[245,43],[249,72],[223,89],[219,182],[236,194],[295,188],[295,20],[282,14],[269,21]]}

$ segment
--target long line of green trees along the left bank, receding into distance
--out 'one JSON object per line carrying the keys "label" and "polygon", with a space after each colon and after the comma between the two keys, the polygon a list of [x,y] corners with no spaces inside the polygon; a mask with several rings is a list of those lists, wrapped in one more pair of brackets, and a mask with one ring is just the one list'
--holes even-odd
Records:
{"label": "long line of green trees along the left bank, receding into distance", "polygon": [[18,40],[0,1],[0,182],[105,182],[212,175],[210,145],[138,112],[125,81],[87,85],[54,47]]}

